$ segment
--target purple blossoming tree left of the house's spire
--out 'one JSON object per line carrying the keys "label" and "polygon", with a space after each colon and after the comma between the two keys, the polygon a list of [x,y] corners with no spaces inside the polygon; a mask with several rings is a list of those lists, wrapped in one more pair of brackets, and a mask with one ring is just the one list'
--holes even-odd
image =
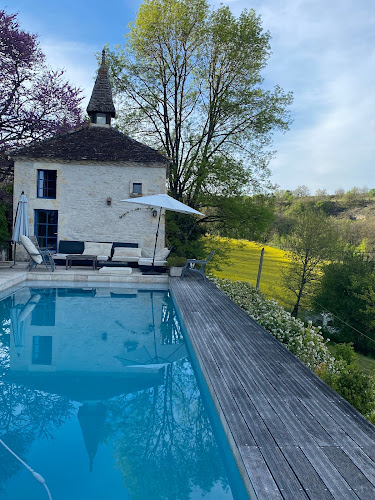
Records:
{"label": "purple blossoming tree left of the house's spire", "polygon": [[0,160],[14,148],[83,123],[81,90],[45,62],[37,35],[0,10]]}

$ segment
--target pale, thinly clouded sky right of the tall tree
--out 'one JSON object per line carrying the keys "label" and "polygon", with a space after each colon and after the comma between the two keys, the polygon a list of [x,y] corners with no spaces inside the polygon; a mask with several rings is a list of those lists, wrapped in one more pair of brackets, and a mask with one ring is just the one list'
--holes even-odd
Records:
{"label": "pale, thinly clouded sky right of the tall tree", "polygon": [[[236,14],[249,8],[246,1],[222,3]],[[275,134],[272,180],[331,192],[375,184],[372,0],[255,0],[251,7],[272,36],[265,84],[294,93],[291,130]]]}

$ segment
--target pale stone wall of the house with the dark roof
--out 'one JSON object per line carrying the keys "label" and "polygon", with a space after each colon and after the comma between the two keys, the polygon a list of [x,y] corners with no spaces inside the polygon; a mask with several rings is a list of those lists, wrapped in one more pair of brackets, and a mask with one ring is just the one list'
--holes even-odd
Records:
{"label": "pale stone wall of the house with the dark roof", "polygon": [[[57,171],[56,199],[37,197],[38,169]],[[31,234],[35,210],[58,210],[59,241],[121,241],[152,250],[158,217],[150,208],[121,200],[130,197],[134,182],[142,183],[143,195],[165,193],[165,179],[163,163],[93,165],[18,160],[14,168],[14,211],[24,191],[29,201]],[[165,245],[164,226],[162,216],[158,248]]]}

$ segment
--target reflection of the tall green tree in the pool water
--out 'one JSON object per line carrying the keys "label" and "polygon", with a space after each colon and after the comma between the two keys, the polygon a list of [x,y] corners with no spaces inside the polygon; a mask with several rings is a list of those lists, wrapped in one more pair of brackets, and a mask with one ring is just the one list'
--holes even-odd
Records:
{"label": "reflection of the tall green tree in the pool water", "polygon": [[107,403],[107,439],[134,499],[187,499],[194,487],[227,488],[222,460],[191,364],[166,370],[165,384]]}

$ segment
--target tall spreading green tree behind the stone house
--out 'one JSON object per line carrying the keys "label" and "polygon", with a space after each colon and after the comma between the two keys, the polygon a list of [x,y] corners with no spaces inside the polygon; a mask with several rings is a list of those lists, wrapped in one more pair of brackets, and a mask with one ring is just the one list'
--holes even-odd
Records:
{"label": "tall spreading green tree behind the stone house", "polygon": [[146,0],[126,38],[109,54],[120,126],[171,159],[171,195],[198,208],[265,180],[292,97],[262,88],[270,34],[260,17],[206,0]]}

